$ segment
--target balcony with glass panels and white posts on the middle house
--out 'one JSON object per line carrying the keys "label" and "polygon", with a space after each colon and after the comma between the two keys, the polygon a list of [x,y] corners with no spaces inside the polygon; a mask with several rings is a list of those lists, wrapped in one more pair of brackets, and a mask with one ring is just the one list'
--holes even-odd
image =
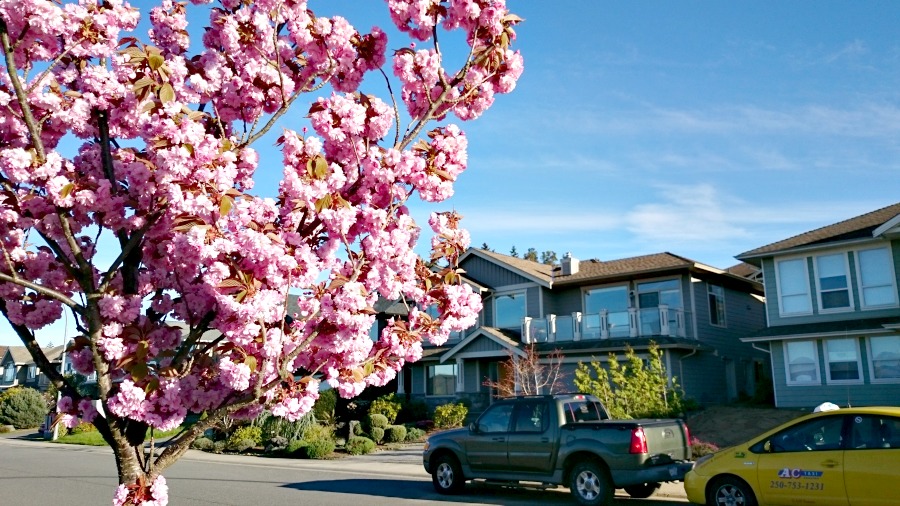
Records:
{"label": "balcony with glass panels and white posts on the middle house", "polygon": [[593,314],[572,313],[569,316],[548,315],[525,318],[522,335],[526,343],[555,343],[622,339],[628,337],[694,338],[690,313],[659,306],[627,311],[601,311]]}

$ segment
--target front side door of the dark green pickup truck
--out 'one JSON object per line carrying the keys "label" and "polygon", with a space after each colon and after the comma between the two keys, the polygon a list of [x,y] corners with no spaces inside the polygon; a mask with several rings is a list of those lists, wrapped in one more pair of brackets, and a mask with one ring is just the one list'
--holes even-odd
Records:
{"label": "front side door of the dark green pickup truck", "polygon": [[508,468],[507,439],[513,404],[493,404],[478,417],[475,430],[469,432],[466,456],[474,470],[502,471]]}

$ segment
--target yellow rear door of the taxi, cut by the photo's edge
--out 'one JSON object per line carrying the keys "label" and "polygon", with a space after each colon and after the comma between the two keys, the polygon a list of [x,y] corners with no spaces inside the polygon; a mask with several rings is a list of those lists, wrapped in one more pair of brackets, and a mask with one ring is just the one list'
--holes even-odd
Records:
{"label": "yellow rear door of the taxi, cut by the photo's edge", "polygon": [[844,483],[850,506],[900,504],[900,419],[854,415],[844,452]]}

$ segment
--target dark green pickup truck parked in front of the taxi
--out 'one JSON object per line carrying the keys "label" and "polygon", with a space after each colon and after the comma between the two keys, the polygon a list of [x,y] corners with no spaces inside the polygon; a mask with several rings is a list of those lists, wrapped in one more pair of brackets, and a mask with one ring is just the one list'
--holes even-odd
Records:
{"label": "dark green pickup truck parked in front of the taxi", "polygon": [[610,420],[600,400],[584,394],[497,400],[467,428],[430,436],[422,458],[442,494],[473,479],[568,486],[586,506],[610,503],[617,488],[649,497],[693,466],[681,420]]}

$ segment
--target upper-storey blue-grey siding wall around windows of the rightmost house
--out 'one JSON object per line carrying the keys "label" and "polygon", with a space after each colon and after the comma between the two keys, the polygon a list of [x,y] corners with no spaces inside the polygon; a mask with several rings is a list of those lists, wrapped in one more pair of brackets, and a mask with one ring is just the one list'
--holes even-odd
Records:
{"label": "upper-storey blue-grey siding wall around windows of the rightmost house", "polygon": [[[882,244],[883,242],[873,242],[868,244],[867,246],[877,246]],[[894,275],[897,278],[895,280],[895,286],[900,291],[900,241],[895,240],[890,242],[891,245],[891,253],[893,255],[894,260]],[[859,246],[854,246],[852,249],[856,249]],[[846,251],[851,248],[845,248],[843,251]],[[825,251],[824,249],[822,251]],[[829,251],[842,251],[840,248],[836,248],[834,250]],[[833,321],[843,321],[850,320],[854,318],[880,318],[885,316],[896,316],[898,314],[897,308],[887,308],[887,309],[876,309],[876,310],[861,310],[860,309],[860,301],[859,301],[859,280],[856,275],[856,254],[855,252],[851,252],[849,255],[849,269],[850,269],[850,289],[851,293],[853,293],[853,302],[854,302],[854,310],[841,312],[841,313],[819,313],[818,304],[816,302],[816,281],[814,278],[815,270],[813,268],[813,256],[815,252],[805,253],[806,255],[806,267],[807,272],[809,273],[809,293],[810,300],[812,302],[812,314],[803,315],[803,316],[787,316],[782,317],[779,314],[780,310],[780,301],[778,300],[778,287],[777,280],[775,276],[775,261],[780,258],[788,257],[788,255],[784,257],[768,257],[764,258],[762,261],[762,271],[765,279],[765,290],[766,290],[766,310],[769,319],[770,327],[777,327],[780,325],[798,325],[805,323],[820,323],[820,322],[833,322]],[[794,257],[794,255],[789,255],[790,257]]]}

